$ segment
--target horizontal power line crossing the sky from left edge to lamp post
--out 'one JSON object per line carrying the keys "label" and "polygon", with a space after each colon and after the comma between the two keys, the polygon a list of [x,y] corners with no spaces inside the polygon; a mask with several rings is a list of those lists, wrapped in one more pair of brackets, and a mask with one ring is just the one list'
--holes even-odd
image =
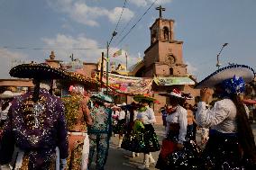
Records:
{"label": "horizontal power line crossing the sky from left edge to lamp post", "polygon": [[73,50],[92,50],[92,49],[105,49],[105,48],[60,48],[60,47],[55,47],[55,48],[30,48],[30,47],[10,47],[10,46],[4,46],[0,47],[0,49],[32,49],[32,50],[53,50],[53,49],[73,49]]}

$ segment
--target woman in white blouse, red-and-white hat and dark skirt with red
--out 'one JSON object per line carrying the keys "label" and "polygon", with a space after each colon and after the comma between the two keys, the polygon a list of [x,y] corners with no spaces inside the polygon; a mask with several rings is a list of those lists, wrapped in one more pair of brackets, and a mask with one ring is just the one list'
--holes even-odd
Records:
{"label": "woman in white blouse, red-and-white hat and dark skirt with red", "polygon": [[167,169],[197,169],[199,150],[187,135],[187,110],[183,107],[186,97],[173,89],[169,96],[171,110],[166,117],[167,127],[165,139],[162,142],[160,156],[156,168]]}

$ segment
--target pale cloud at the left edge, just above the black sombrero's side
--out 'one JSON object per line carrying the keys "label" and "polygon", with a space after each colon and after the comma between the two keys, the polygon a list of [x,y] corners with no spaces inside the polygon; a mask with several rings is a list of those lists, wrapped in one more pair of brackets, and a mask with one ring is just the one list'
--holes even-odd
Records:
{"label": "pale cloud at the left edge, just above the black sombrero's side", "polygon": [[23,53],[13,52],[8,49],[0,49],[0,77],[9,78],[9,70],[17,64],[22,64],[27,55]]}

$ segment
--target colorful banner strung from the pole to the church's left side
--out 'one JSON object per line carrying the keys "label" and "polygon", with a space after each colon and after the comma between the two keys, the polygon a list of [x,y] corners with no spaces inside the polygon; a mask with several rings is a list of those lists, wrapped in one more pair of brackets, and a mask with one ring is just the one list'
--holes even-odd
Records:
{"label": "colorful banner strung from the pole to the church's left side", "polygon": [[[106,83],[106,75],[103,76],[103,82]],[[151,93],[152,78],[142,78],[135,76],[122,76],[109,74],[108,85],[120,94],[149,94]]]}

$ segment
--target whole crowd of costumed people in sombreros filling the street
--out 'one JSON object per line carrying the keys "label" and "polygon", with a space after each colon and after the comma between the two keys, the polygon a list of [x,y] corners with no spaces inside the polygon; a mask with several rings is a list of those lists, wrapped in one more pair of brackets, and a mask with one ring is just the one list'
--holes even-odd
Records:
{"label": "whole crowd of costumed people in sombreros filling the street", "polygon": [[[83,76],[46,64],[19,65],[10,75],[32,78],[34,88],[0,95],[0,169],[103,170],[115,134],[117,148],[131,151],[132,157],[143,155],[139,169],[256,168],[255,141],[242,103],[245,84],[254,78],[251,67],[231,65],[207,76],[195,86],[201,90],[194,106],[189,104],[193,96],[177,88],[160,94],[169,97],[160,109],[165,127],[161,146],[151,109],[156,99],[149,94],[114,104],[102,91],[90,93]],[[52,92],[53,79],[65,79],[61,96]],[[201,143],[197,130],[202,131]],[[151,155],[156,151],[157,160]]]}

